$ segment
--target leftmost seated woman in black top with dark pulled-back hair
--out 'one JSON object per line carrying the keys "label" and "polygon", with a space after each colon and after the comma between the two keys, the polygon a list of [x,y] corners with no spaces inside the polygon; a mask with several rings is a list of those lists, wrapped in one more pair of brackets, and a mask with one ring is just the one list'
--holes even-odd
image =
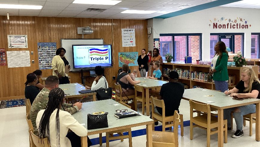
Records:
{"label": "leftmost seated woman in black top with dark pulled-back hair", "polygon": [[30,99],[31,104],[33,104],[34,99],[40,92],[40,90],[35,86],[38,82],[37,76],[34,73],[29,73],[26,76],[25,82],[25,98]]}

